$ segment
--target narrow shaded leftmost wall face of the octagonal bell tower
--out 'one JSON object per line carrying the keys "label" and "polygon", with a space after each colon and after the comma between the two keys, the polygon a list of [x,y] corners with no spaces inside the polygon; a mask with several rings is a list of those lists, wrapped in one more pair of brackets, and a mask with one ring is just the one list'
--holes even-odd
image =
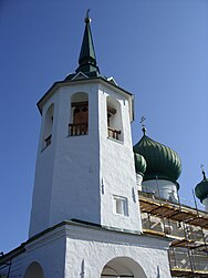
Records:
{"label": "narrow shaded leftmost wall face of the octagonal bell tower", "polygon": [[[43,106],[42,111],[42,122],[41,131],[39,136],[39,146],[37,154],[37,165],[34,174],[34,187],[32,195],[32,208],[30,217],[30,228],[29,237],[34,236],[41,230],[49,227],[50,218],[50,204],[51,204],[51,194],[52,194],[52,178],[53,178],[53,167],[55,155],[55,128],[56,128],[56,119],[58,119],[58,105],[59,105],[59,94],[53,95],[48,103]],[[52,128],[52,140],[51,144],[45,148],[43,147],[43,137],[45,128],[45,117],[46,112],[51,105],[54,105],[53,111],[53,128]]]}

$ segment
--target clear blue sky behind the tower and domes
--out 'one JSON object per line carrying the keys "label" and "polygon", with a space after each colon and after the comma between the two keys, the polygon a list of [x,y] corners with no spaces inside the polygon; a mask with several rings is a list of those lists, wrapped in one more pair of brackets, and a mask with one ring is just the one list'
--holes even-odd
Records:
{"label": "clear blue sky behind the tower and domes", "polygon": [[181,157],[187,204],[201,163],[208,172],[207,0],[1,0],[0,251],[28,238],[35,103],[77,68],[89,8],[101,72],[135,94],[133,142],[144,115],[147,135]]}

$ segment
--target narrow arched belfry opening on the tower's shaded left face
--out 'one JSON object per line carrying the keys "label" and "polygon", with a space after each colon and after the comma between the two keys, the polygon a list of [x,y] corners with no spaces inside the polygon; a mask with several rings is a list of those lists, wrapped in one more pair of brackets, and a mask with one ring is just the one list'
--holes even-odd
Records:
{"label": "narrow arched belfry opening on the tower's shaded left face", "polygon": [[48,147],[52,142],[53,113],[54,104],[51,104],[45,114],[42,148]]}

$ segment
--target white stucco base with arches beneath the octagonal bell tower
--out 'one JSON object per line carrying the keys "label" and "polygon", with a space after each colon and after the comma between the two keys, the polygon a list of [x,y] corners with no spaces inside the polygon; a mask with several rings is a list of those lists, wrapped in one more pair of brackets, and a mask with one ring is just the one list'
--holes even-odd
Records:
{"label": "white stucco base with arches beneath the octagonal bell tower", "polygon": [[13,259],[10,275],[23,278],[37,261],[44,278],[101,278],[108,261],[127,258],[135,278],[170,278],[167,247],[163,238],[69,223],[25,244],[25,253]]}

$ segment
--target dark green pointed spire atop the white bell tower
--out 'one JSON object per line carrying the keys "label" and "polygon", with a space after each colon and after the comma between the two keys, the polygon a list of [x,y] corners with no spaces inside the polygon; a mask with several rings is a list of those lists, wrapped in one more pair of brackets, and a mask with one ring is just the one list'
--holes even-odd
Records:
{"label": "dark green pointed spire atop the white bell tower", "polygon": [[96,65],[96,56],[95,56],[95,50],[93,44],[93,38],[91,32],[91,19],[89,17],[90,10],[86,12],[85,17],[85,30],[84,30],[84,37],[82,41],[82,48],[80,52],[79,58],[79,68],[76,69],[76,72],[83,72],[83,73],[92,73],[95,72],[96,74],[100,73],[98,66]]}

